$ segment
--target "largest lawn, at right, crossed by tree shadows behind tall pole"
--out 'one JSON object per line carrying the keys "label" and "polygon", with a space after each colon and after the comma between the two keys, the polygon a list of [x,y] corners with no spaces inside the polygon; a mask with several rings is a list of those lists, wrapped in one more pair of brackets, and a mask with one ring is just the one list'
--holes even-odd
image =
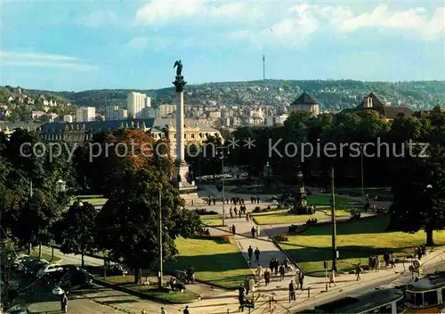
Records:
{"label": "largest lawn, at right, crossed by tree shadows behind tall pole", "polygon": [[[360,221],[344,221],[337,224],[337,248],[340,254],[339,271],[353,270],[358,262],[368,265],[371,254],[392,251],[396,256],[412,254],[413,247],[425,243],[425,232],[416,234],[386,232],[389,216],[376,216]],[[280,242],[303,270],[324,276],[323,262],[332,257],[332,225],[312,227],[303,235],[288,236],[287,242]],[[436,245],[445,245],[445,231],[434,231]],[[382,256],[381,261],[383,261]]]}

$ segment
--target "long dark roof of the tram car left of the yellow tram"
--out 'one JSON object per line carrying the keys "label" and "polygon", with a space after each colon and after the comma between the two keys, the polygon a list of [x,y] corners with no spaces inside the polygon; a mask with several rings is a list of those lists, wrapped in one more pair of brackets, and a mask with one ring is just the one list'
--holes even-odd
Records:
{"label": "long dark roof of the tram car left of the yellow tram", "polygon": [[316,306],[314,310],[304,310],[302,313],[360,313],[378,306],[396,301],[403,297],[399,289],[376,290],[357,297],[345,297],[333,302]]}

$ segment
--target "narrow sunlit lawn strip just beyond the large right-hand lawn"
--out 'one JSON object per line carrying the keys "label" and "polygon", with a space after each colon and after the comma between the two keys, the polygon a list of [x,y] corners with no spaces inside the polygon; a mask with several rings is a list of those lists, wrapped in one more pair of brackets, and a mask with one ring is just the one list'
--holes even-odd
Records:
{"label": "narrow sunlit lawn strip just beyond the large right-hand lawn", "polygon": [[[308,219],[314,218],[317,218],[318,221],[321,221],[330,218],[330,210],[328,208],[317,210],[314,214],[295,214],[288,212],[288,210],[283,210],[267,213],[252,213],[252,216],[255,218],[256,223],[260,225],[305,222]],[[336,216],[350,216],[350,212],[350,209],[337,209]]]}

